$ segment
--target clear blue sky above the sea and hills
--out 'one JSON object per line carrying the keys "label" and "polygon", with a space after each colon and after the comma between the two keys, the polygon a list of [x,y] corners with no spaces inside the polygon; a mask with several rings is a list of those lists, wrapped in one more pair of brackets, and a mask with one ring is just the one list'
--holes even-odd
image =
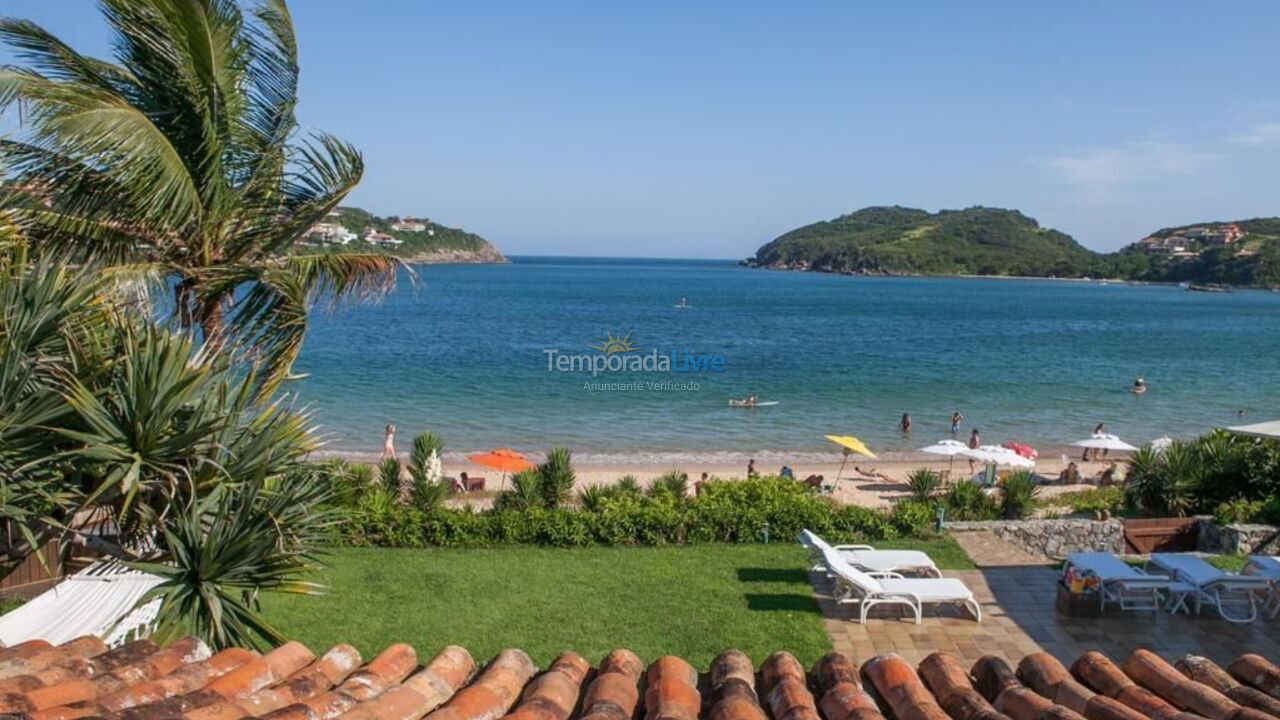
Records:
{"label": "clear blue sky above the sea and hills", "polygon": [[[742,258],[883,204],[1097,250],[1280,214],[1276,3],[292,8],[303,124],[365,152],[351,201],[509,254]],[[91,0],[0,12],[105,53]]]}

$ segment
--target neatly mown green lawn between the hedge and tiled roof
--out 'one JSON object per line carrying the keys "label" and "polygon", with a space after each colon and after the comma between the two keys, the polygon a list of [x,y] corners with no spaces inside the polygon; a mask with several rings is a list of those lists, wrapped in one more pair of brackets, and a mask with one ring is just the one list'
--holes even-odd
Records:
{"label": "neatly mown green lawn between the hedge and tiled roof", "polygon": [[[895,542],[940,566],[968,568],[950,539]],[[886,544],[884,547],[888,547]],[[371,657],[393,642],[422,657],[448,643],[477,661],[506,647],[547,665],[573,650],[595,662],[616,647],[707,667],[736,647],[756,662],[787,650],[810,664],[831,650],[791,543],[663,548],[504,547],[338,550],[321,597],[266,594],[266,616],[315,651],[349,642]]]}

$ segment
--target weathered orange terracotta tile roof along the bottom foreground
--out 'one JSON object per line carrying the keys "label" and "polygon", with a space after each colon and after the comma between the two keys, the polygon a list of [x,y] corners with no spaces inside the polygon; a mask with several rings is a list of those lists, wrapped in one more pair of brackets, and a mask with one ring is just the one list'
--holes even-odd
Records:
{"label": "weathered orange terracotta tile roof along the bottom foreground", "polygon": [[1280,669],[1257,655],[1224,669],[1198,656],[1175,665],[1138,650],[1117,665],[1089,652],[1069,670],[1038,652],[1015,673],[993,656],[970,669],[942,653],[919,667],[896,655],[859,667],[833,652],[806,673],[786,652],[756,671],[750,657],[731,650],[700,674],[675,656],[645,669],[626,650],[611,652],[594,671],[588,659],[564,652],[539,673],[524,652],[506,650],[476,674],[471,655],[457,646],[420,669],[406,644],[362,667],[346,644],[319,659],[298,643],[266,655],[207,653],[192,638],[164,648],[142,641],[106,650],[79,638],[0,650],[0,685],[9,689],[0,694],[0,714],[20,720],[1280,719]]}

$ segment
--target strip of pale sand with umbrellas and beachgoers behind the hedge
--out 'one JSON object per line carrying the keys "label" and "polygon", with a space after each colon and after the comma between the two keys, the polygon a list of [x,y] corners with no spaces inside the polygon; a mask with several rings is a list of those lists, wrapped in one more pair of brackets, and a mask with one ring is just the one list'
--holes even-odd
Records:
{"label": "strip of pale sand with umbrellas and beachgoers behind the hedge", "polygon": [[[1112,457],[1103,460],[1088,462],[1080,461],[1078,455],[1079,450],[1068,457],[1068,461],[1075,462],[1080,469],[1080,474],[1084,478],[1096,477],[1103,469],[1110,465]],[[374,455],[367,454],[339,454],[348,460],[375,462],[378,460]],[[801,459],[812,457],[817,454],[795,454]],[[771,454],[772,456],[772,454]],[[768,457],[768,456],[765,456]],[[536,460],[538,457],[531,457]],[[1124,454],[1120,457],[1115,457],[1117,462],[1117,474],[1124,473]],[[591,460],[588,456],[586,461],[575,461],[573,470],[577,474],[577,487],[588,486],[600,486],[616,483],[623,475],[634,475],[640,484],[648,486],[654,478],[668,473],[673,466],[677,466],[682,473],[689,474],[690,482],[696,482],[703,473],[707,473],[712,478],[741,478],[746,475],[746,461],[749,457],[744,456],[741,461],[730,461],[726,459],[714,459],[707,462],[696,462],[690,460],[684,460],[678,465],[672,462],[654,462],[654,461],[621,461],[621,460],[607,460],[598,461]],[[796,478],[808,478],[809,475],[823,475],[826,480],[832,480],[836,478],[837,473],[841,471],[840,456],[831,455],[831,460],[800,460],[796,462],[787,462],[791,470],[795,473]],[[470,478],[485,478],[485,489],[495,491],[503,487],[509,488],[509,483],[503,484],[502,473],[497,473],[493,469],[468,462],[465,459],[454,454],[447,454],[444,462],[444,474],[448,477],[457,477],[460,473],[466,473]],[[1036,461],[1036,471],[1050,479],[1057,478],[1064,468],[1061,454],[1042,455]],[[938,470],[942,473],[948,473],[951,479],[964,479],[970,475],[969,462],[963,457],[956,457],[955,461],[948,461],[946,457],[936,456],[910,456],[910,457],[896,457],[891,460],[868,460],[865,457],[850,457],[849,462],[845,465],[842,474],[840,475],[840,482],[836,486],[835,497],[841,502],[847,502],[852,505],[860,505],[863,507],[887,507],[895,500],[899,500],[908,495],[906,477],[919,468],[929,468],[932,470]],[[756,469],[760,474],[777,474],[781,469],[781,464],[774,462],[772,459],[767,464],[765,461],[758,459]],[[884,475],[888,479],[869,477],[868,474],[859,473],[861,469],[868,474]],[[982,465],[975,464],[974,471],[980,471]],[[1074,489],[1082,489],[1087,487],[1094,487],[1091,484],[1047,484],[1042,489],[1042,496],[1048,497],[1059,495],[1062,492],[1070,492]]]}

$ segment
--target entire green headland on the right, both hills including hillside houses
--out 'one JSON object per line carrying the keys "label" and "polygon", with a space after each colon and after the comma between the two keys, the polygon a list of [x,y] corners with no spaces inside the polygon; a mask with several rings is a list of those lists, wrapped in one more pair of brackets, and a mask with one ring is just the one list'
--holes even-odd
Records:
{"label": "entire green headland on the right, both hills including hillside houses", "polygon": [[1280,218],[1164,228],[1094,252],[1018,210],[876,206],[790,231],[745,265],[874,275],[1007,275],[1280,286]]}

